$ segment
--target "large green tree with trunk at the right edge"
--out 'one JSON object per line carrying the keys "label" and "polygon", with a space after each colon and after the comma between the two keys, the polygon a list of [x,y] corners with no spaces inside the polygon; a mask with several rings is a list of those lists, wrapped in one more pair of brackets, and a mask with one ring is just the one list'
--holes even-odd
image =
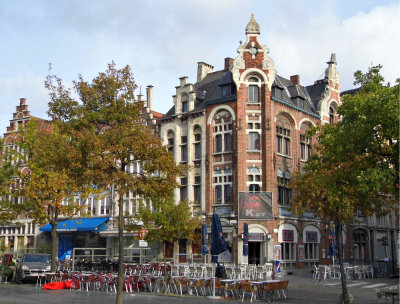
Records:
{"label": "large green tree with trunk at the right edge", "polygon": [[338,227],[345,303],[349,299],[340,240],[343,225],[353,223],[356,212],[385,214],[398,204],[399,81],[393,87],[383,84],[380,68],[355,73],[355,84],[361,88],[343,97],[338,123],[311,131],[318,139],[316,153],[291,183],[294,213],[313,211]]}

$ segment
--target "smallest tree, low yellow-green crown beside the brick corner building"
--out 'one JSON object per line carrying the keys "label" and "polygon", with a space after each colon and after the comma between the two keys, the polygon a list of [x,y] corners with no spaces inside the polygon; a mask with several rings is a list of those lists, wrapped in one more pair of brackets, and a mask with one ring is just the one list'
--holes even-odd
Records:
{"label": "smallest tree, low yellow-green crown beside the brick corner building", "polygon": [[[192,217],[191,208],[188,201],[181,201],[175,204],[173,200],[154,201],[152,208],[147,208],[142,204],[139,208],[137,220],[143,222],[146,230],[146,240],[149,242],[157,241],[174,243],[181,239],[198,239],[198,228],[200,219]],[[166,257],[163,251],[164,266]],[[164,267],[164,276],[166,267]]]}

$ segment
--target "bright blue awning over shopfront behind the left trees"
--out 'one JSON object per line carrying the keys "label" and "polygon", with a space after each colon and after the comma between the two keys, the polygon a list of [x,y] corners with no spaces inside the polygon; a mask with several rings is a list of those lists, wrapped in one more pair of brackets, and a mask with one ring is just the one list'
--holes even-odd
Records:
{"label": "bright blue awning over shopfront behind the left trees", "polygon": [[[69,232],[69,231],[94,231],[100,232],[107,229],[105,223],[109,217],[99,218],[76,218],[66,221],[60,221],[57,223],[58,232]],[[40,231],[51,231],[51,225],[47,224],[40,228]]]}

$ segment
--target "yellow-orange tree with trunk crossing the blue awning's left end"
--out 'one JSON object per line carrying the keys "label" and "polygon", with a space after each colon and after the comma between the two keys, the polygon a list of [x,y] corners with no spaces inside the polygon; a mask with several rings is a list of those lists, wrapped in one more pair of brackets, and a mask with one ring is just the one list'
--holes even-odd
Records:
{"label": "yellow-orange tree with trunk crossing the blue awning's left end", "polygon": [[[69,168],[76,161],[69,138],[59,132],[57,125],[32,118],[21,131],[22,148],[29,173],[22,177],[18,205],[21,212],[35,223],[51,225],[51,271],[56,271],[58,257],[57,224],[79,211],[84,213],[82,202],[95,189],[79,185]],[[80,199],[76,200],[76,196]]]}

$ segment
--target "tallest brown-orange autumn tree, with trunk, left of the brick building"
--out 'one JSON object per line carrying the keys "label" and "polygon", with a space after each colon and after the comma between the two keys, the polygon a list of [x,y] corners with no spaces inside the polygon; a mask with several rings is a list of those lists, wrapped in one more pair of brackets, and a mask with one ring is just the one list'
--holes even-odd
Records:
{"label": "tallest brown-orange autumn tree, with trunk, left of the brick building", "polygon": [[[116,302],[122,303],[124,194],[132,191],[152,201],[171,198],[181,169],[143,124],[143,103],[135,101],[136,84],[129,66],[117,69],[111,63],[91,83],[80,77],[73,86],[79,100],[56,76],[50,76],[46,85],[51,99],[48,114],[68,136],[73,150],[79,151],[79,161],[69,173],[76,178],[81,174],[83,182],[88,178],[104,189],[113,187],[118,194]],[[143,165],[143,172],[130,173],[136,162]]]}

